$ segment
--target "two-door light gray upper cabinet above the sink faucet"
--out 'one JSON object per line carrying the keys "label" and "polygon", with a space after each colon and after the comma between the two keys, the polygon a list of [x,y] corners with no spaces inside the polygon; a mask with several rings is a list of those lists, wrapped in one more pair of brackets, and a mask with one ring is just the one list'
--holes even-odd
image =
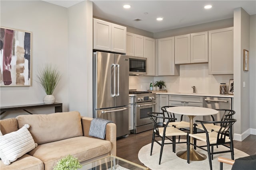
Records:
{"label": "two-door light gray upper cabinet above the sink faucet", "polygon": [[175,36],[175,64],[207,62],[208,31]]}

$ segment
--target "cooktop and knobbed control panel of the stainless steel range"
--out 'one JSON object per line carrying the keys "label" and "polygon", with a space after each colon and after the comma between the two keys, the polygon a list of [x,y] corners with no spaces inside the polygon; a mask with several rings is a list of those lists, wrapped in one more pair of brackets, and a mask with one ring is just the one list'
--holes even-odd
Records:
{"label": "cooktop and knobbed control panel of the stainless steel range", "polygon": [[136,90],[129,90],[129,94],[134,94],[134,103],[140,102],[151,102],[156,100],[156,93],[152,92],[143,92]]}

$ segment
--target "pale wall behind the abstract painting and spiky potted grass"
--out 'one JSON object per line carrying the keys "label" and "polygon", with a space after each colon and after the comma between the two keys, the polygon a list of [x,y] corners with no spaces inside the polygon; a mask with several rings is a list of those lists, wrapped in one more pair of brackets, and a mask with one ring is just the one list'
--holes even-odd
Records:
{"label": "pale wall behind the abstract painting and spiky potted grass", "polygon": [[[46,95],[35,81],[38,68],[45,63],[56,64],[62,74],[54,96],[68,110],[68,18],[67,8],[43,1],[0,1],[1,27],[32,32],[31,79],[29,87],[1,87],[1,106],[43,103]],[[32,110],[36,113],[53,113],[54,108]],[[1,116],[15,117],[19,112]],[[25,114],[26,112],[22,112]]]}

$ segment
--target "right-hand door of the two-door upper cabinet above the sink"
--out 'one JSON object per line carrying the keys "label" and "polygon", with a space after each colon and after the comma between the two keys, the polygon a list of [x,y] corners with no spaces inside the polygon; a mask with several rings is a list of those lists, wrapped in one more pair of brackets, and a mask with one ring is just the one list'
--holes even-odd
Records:
{"label": "right-hand door of the two-door upper cabinet above the sink", "polygon": [[208,62],[208,31],[190,34],[190,63]]}

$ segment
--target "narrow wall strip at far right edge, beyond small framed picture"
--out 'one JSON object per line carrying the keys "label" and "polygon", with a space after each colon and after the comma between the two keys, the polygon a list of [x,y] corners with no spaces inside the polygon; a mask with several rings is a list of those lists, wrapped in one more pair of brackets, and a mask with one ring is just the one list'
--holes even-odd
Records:
{"label": "narrow wall strip at far right edge, beyond small framed picture", "polygon": [[256,15],[250,16],[250,128],[256,135]]}

